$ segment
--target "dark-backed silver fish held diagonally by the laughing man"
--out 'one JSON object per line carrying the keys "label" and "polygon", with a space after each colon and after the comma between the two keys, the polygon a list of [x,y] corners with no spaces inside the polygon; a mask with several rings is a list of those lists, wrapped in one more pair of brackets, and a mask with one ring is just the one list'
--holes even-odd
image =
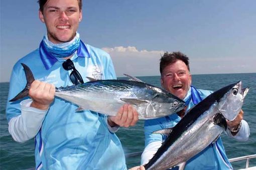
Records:
{"label": "dark-backed silver fish held diagonally by the laughing man", "polygon": [[238,115],[248,89],[241,89],[241,81],[227,85],[195,105],[172,129],[157,131],[169,136],[145,168],[167,169],[179,165],[183,169],[188,159],[227,128],[225,119],[233,120]]}

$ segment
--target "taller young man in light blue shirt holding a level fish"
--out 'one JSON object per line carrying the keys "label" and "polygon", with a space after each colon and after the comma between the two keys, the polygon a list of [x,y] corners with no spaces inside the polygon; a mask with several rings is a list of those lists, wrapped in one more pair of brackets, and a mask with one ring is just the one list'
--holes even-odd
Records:
{"label": "taller young man in light blue shirt holding a level fish", "polygon": [[86,77],[116,78],[109,54],[80,40],[82,0],[39,0],[39,4],[47,34],[39,48],[13,68],[8,100],[26,85],[21,63],[31,68],[36,80],[29,90],[31,99],[7,103],[11,135],[19,142],[35,137],[36,169],[126,169],[114,132],[118,125],[135,125],[137,111],[125,104],[116,116],[76,112],[76,105],[54,97],[55,86],[88,81]]}

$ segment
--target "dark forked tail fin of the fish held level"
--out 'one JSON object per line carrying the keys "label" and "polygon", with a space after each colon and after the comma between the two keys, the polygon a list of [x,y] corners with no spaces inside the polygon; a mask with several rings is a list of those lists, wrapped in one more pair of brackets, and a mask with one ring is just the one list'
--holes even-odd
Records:
{"label": "dark forked tail fin of the fish held level", "polygon": [[21,99],[23,97],[28,96],[30,86],[31,86],[32,82],[35,80],[31,69],[26,64],[24,64],[24,63],[21,63],[21,64],[22,64],[22,66],[24,67],[24,70],[25,70],[27,84],[26,84],[26,87],[18,95],[16,95],[13,99],[11,99],[9,101],[16,101],[18,99]]}

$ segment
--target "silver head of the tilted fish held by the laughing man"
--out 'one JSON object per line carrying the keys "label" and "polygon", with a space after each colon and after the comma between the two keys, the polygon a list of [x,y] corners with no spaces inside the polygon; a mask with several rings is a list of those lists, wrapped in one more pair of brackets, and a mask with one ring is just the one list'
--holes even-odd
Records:
{"label": "silver head of the tilted fish held by the laughing man", "polygon": [[228,91],[221,97],[218,109],[227,120],[232,121],[238,115],[248,89],[248,87],[242,89],[242,82],[238,81],[229,86]]}

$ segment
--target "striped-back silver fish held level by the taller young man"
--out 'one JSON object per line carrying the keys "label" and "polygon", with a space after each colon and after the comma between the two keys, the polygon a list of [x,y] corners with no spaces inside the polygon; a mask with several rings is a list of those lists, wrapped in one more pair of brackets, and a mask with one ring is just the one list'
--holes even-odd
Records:
{"label": "striped-back silver fish held level by the taller young man", "polygon": [[[30,68],[23,64],[27,85],[10,101],[28,95],[34,76]],[[125,103],[133,104],[139,119],[162,117],[184,108],[185,102],[166,90],[145,82],[130,80],[95,80],[83,84],[56,88],[55,96],[79,106],[78,110],[89,109],[107,115],[116,115]]]}

